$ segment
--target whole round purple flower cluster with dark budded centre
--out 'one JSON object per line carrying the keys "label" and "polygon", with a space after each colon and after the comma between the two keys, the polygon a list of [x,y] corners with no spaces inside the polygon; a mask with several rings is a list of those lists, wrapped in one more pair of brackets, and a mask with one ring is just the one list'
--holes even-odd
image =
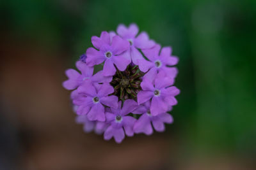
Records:
{"label": "whole round purple flower cluster with dark budded centre", "polygon": [[[164,131],[172,124],[167,113],[177,104],[180,92],[173,86],[179,59],[169,46],[160,45],[140,32],[136,24],[118,25],[116,32],[103,31],[93,36],[94,46],[76,62],[78,73],[68,69],[63,87],[73,90],[70,97],[77,114],[76,122],[85,132],[104,134],[121,143],[134,133]],[[93,67],[102,71],[93,74]]]}

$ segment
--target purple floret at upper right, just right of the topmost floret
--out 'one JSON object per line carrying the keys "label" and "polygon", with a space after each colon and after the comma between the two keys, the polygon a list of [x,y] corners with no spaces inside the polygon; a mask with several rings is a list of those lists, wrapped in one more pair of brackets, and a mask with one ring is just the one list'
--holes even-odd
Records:
{"label": "purple floret at upper right, just right of the topmost floret", "polygon": [[177,64],[179,59],[171,55],[172,48],[170,46],[163,47],[161,53],[159,53],[160,49],[161,46],[156,45],[153,48],[142,50],[148,60],[138,60],[140,70],[143,72],[147,72],[149,70],[145,77],[153,77],[159,73],[159,71],[163,71],[166,76],[175,78],[178,70],[176,67],[170,66]]}

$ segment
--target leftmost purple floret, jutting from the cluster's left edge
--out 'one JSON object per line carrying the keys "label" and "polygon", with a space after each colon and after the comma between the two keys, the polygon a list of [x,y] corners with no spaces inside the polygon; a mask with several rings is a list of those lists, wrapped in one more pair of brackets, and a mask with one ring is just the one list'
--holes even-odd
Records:
{"label": "leftmost purple floret, jutting from the cluster's left edge", "polygon": [[66,75],[68,80],[63,82],[63,87],[67,90],[74,90],[84,81],[92,81],[92,83],[105,83],[112,80],[112,76],[103,76],[102,71],[93,75],[93,67],[87,66],[86,63],[79,60],[76,62],[76,67],[81,71],[79,74],[74,69],[68,69]]}

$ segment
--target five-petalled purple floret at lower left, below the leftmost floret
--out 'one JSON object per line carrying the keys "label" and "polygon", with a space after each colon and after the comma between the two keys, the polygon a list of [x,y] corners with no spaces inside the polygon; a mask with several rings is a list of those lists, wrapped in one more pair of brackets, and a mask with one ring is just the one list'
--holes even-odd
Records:
{"label": "five-petalled purple floret at lower left, below the leftmost floret", "polygon": [[88,119],[105,121],[105,108],[102,104],[111,108],[118,107],[118,97],[108,96],[114,92],[114,88],[109,83],[93,86],[91,82],[83,83],[78,89],[79,97],[74,99],[73,103],[79,106],[78,115],[87,115]]}

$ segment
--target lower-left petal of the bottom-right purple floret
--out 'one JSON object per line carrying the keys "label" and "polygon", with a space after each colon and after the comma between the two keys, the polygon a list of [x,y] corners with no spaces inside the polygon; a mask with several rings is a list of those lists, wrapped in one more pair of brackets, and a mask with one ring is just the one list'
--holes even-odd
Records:
{"label": "lower-left petal of the bottom-right purple floret", "polygon": [[148,117],[147,114],[141,115],[141,117],[134,124],[133,130],[136,134],[145,133],[147,135],[150,135],[153,133],[153,128],[150,123],[150,118]]}

